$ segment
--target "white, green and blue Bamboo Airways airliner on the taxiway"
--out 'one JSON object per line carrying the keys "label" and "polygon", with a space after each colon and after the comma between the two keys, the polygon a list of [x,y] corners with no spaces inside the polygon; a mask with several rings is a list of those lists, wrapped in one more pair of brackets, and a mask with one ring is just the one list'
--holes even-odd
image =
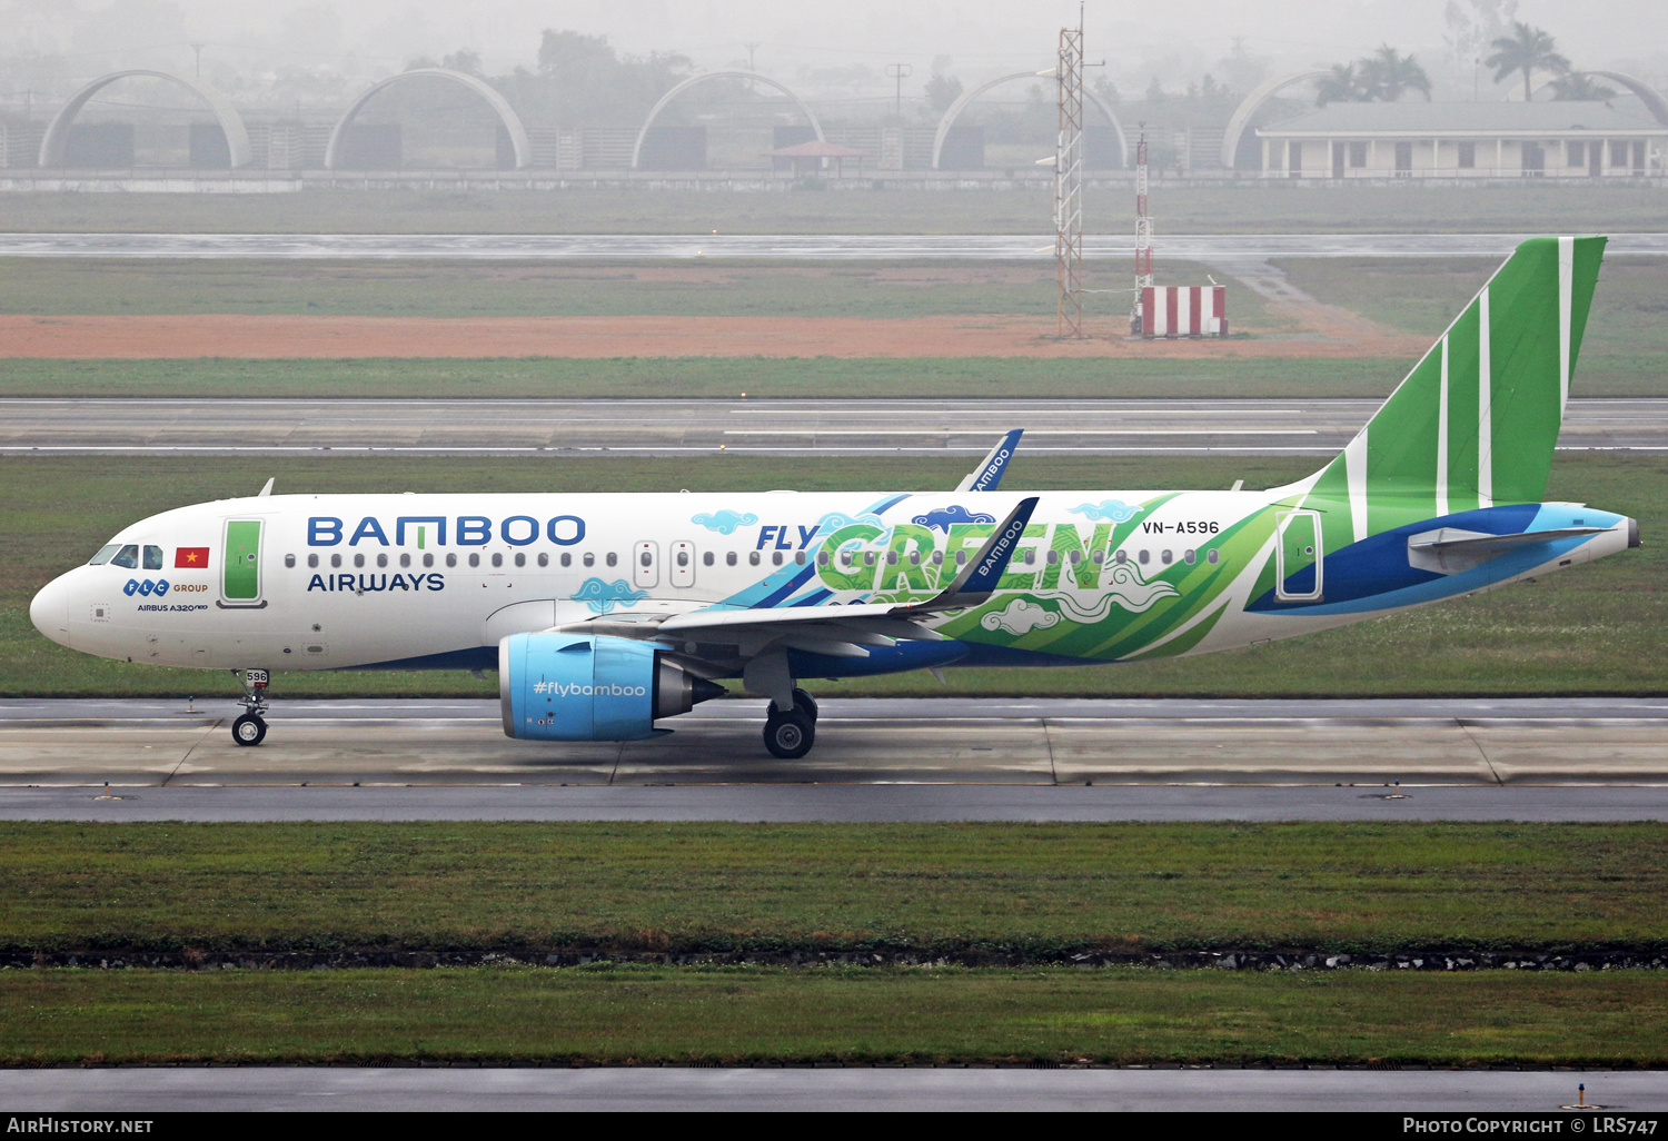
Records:
{"label": "white, green and blue Bamboo Airways airliner on the taxiway", "polygon": [[1266,490],[259,495],[125,527],[30,604],[42,634],[229,669],[242,746],[274,671],[495,669],[504,732],[637,741],[739,679],[764,746],[807,679],[1144,662],[1576,567],[1638,524],[1541,502],[1603,257],[1523,242],[1364,429]]}

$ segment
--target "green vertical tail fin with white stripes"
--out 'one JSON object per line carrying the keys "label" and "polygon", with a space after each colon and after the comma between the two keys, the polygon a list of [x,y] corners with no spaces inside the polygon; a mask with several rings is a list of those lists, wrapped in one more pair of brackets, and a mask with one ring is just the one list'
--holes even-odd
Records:
{"label": "green vertical tail fin with white stripes", "polygon": [[1506,259],[1308,499],[1338,549],[1493,504],[1540,502],[1605,255],[1601,237],[1530,239]]}

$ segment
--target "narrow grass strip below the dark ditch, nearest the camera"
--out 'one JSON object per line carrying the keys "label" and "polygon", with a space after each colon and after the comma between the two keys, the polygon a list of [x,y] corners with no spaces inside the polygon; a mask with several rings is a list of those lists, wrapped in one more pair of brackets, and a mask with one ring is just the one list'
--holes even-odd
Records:
{"label": "narrow grass strip below the dark ditch, nearest the camera", "polygon": [[0,1066],[1319,1063],[1651,1068],[1651,973],[731,968],[0,973]]}

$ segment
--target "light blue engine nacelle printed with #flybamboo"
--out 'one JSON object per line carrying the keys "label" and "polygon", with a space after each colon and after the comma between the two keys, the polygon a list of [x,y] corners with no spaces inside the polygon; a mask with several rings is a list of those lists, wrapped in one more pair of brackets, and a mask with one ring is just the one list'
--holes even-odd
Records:
{"label": "light blue engine nacelle printed with #flybamboo", "polygon": [[626,637],[510,634],[499,642],[504,732],[524,741],[641,741],[659,732],[657,717],[724,692],[664,656],[664,646]]}

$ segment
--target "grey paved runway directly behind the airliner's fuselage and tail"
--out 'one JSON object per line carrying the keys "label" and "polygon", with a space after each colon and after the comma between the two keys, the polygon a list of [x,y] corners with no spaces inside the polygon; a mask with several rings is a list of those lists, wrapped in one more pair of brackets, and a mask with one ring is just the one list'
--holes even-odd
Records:
{"label": "grey paved runway directly behind the airliner's fuselage and tail", "polygon": [[[1381,400],[0,399],[0,454],[1333,455]],[[1668,399],[1571,400],[1560,450],[1668,450]]]}

